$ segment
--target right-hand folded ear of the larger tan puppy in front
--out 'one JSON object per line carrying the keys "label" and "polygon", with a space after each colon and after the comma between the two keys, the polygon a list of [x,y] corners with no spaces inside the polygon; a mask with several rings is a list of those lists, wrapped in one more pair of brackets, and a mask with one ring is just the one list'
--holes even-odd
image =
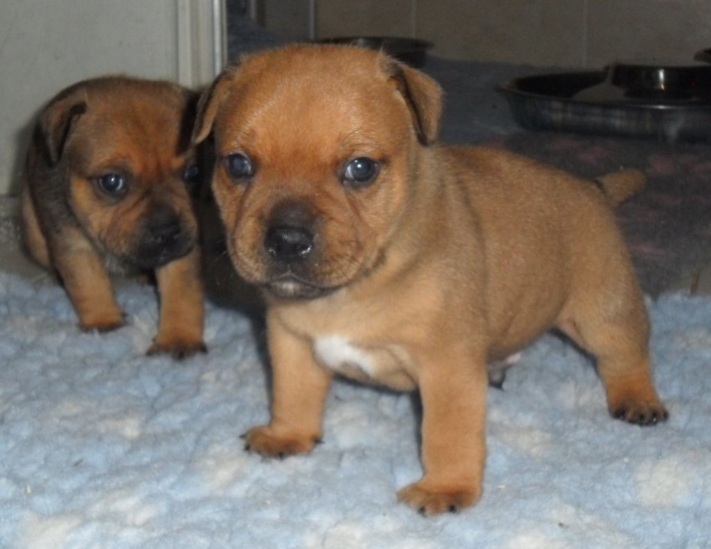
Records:
{"label": "right-hand folded ear of the larger tan puppy in front", "polygon": [[439,118],[442,115],[442,87],[421,71],[387,55],[383,55],[381,63],[385,74],[395,82],[410,109],[419,142],[423,145],[432,144],[437,139]]}

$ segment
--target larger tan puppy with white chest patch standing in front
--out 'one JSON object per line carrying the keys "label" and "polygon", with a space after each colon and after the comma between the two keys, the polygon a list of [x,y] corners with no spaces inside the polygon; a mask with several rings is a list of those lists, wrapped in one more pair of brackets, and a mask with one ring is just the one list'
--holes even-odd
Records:
{"label": "larger tan puppy with white chest patch standing in front", "polygon": [[[439,85],[387,55],[252,55],[201,97],[232,262],[267,299],[265,456],[309,452],[334,373],[422,398],[424,514],[481,496],[486,363],[548,329],[597,357],[611,415],[651,425],[649,326],[611,201],[505,151],[435,143]],[[602,186],[614,183],[614,176]]]}

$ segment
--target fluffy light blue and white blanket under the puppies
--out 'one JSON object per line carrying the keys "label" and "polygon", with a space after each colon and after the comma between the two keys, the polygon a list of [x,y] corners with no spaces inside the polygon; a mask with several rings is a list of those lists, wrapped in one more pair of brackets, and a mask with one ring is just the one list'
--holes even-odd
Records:
{"label": "fluffy light blue and white blanket under the puppies", "polygon": [[210,352],[148,358],[150,287],[127,326],[84,334],[48,282],[0,272],[0,546],[11,548],[704,548],[711,545],[711,301],[648,306],[670,420],[612,420],[591,361],[545,336],[488,396],[485,494],[423,518],[411,395],[338,381],[324,444],[267,461],[259,329],[208,307]]}

